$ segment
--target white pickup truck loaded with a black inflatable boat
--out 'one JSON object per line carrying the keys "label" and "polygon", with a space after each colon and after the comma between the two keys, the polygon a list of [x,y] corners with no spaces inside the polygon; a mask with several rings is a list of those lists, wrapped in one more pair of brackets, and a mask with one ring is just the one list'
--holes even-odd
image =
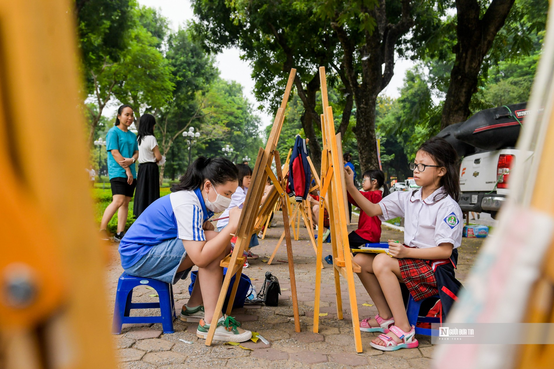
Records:
{"label": "white pickup truck loaded with a black inflatable boat", "polygon": [[516,160],[530,163],[532,159],[532,152],[515,148],[527,115],[526,103],[501,106],[439,132],[437,136],[450,142],[462,157],[458,201],[462,211],[496,217],[510,191],[510,169]]}

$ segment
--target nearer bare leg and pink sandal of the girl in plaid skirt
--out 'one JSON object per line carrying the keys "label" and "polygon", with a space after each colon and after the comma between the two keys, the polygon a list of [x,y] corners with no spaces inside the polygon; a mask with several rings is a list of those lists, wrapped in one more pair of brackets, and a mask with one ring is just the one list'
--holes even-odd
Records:
{"label": "nearer bare leg and pink sandal of the girl in plaid skirt", "polygon": [[[375,276],[379,281],[379,285],[381,285],[388,306],[391,308],[394,325],[404,332],[410,331],[412,326],[408,322],[400,282],[398,282],[398,279],[402,279],[398,259],[391,258],[387,254],[378,254],[373,260],[373,271],[375,271]],[[392,337],[397,343],[402,342],[393,332],[388,332],[387,336]],[[381,346],[385,345],[379,337],[375,337],[372,342]]]}

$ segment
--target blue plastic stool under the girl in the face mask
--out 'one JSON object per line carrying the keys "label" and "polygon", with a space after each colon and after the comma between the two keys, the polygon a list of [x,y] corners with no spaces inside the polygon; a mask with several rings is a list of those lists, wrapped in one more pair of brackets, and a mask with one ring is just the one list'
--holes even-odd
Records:
{"label": "blue plastic stool under the girl in the face mask", "polygon": [[[148,285],[156,290],[160,298],[158,303],[131,303],[133,288]],[[129,316],[131,309],[160,309],[161,316]],[[121,334],[121,325],[125,323],[161,323],[164,333],[173,333],[175,318],[173,287],[170,283],[152,278],[133,277],[123,272],[117,282],[115,295],[114,320],[112,334]]]}

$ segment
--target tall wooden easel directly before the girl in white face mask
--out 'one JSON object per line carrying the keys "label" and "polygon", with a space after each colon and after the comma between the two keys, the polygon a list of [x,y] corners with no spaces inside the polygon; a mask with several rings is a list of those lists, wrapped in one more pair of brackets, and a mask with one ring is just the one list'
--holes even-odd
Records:
{"label": "tall wooden easel directly before the girl in white face mask", "polygon": [[[219,313],[222,311],[223,302],[225,300],[225,295],[227,295],[227,290],[229,289],[229,284],[233,275],[236,275],[235,280],[239,280],[240,274],[242,273],[244,265],[243,252],[248,251],[248,246],[250,243],[250,238],[252,237],[252,232],[254,230],[254,222],[258,214],[258,209],[261,202],[261,196],[264,194],[264,188],[266,180],[269,177],[273,180],[273,184],[277,189],[281,202],[283,203],[283,220],[285,225],[288,224],[289,217],[287,212],[287,207],[285,201],[288,202],[288,198],[285,194],[283,186],[280,184],[283,183],[283,170],[281,170],[281,160],[279,158],[279,152],[275,148],[279,142],[279,136],[281,133],[281,128],[283,127],[283,119],[285,113],[286,103],[289,100],[290,90],[293,87],[294,77],[296,75],[296,69],[291,69],[289,80],[286,84],[285,93],[283,96],[283,101],[281,101],[281,106],[279,107],[275,120],[273,121],[273,128],[271,128],[271,133],[267,144],[265,145],[265,150],[260,147],[258,151],[258,157],[256,158],[256,164],[254,165],[254,171],[252,173],[252,186],[247,193],[243,211],[240,214],[239,226],[237,230],[237,242],[235,242],[235,247],[233,252],[224,258],[220,266],[227,267],[227,273],[223,279],[223,286],[221,292],[219,293],[219,298],[217,300],[216,311],[214,312],[214,317],[212,323],[216,323]],[[271,163],[275,160],[275,167],[277,170],[277,175],[271,170]],[[293,248],[290,240],[289,227],[285,226],[286,232],[286,251],[289,261],[289,277],[290,277],[290,290],[293,299],[293,312],[294,312],[294,328],[296,332],[300,332],[300,318],[298,313],[298,300],[296,298],[296,279],[294,276],[294,259],[293,259]],[[231,309],[233,308],[233,302],[235,300],[235,295],[237,294],[238,283],[233,284],[233,289],[230,294],[229,303],[227,306],[227,314],[230,314]],[[216,333],[217,324],[211,324],[208,331],[208,337],[206,339],[206,345],[211,346],[213,336]]]}

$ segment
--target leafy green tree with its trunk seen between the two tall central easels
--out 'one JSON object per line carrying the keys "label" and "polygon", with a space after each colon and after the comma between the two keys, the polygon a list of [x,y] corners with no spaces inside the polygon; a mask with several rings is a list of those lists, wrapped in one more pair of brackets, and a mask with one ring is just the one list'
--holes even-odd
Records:
{"label": "leafy green tree with its trunk seen between the two tall central easels", "polygon": [[[193,0],[198,19],[196,33],[207,49],[219,52],[228,46],[238,46],[242,57],[250,62],[255,80],[255,95],[268,102],[271,112],[281,103],[291,68],[296,68],[296,93],[304,106],[301,124],[316,167],[320,166],[320,115],[316,98],[320,90],[319,66],[332,72],[337,39],[329,24],[321,22],[310,2],[282,0],[268,3],[264,0]],[[337,79],[330,73],[329,84]],[[345,91],[343,98],[350,103],[342,112],[343,132],[350,121],[352,94]],[[336,114],[338,112],[335,112]]]}

